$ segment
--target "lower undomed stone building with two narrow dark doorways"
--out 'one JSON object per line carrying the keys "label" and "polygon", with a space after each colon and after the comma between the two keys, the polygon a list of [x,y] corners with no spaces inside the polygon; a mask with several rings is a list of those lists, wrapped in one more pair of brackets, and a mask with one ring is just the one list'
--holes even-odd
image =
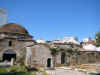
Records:
{"label": "lower undomed stone building with two narrow dark doorways", "polygon": [[[59,47],[61,50],[56,55],[56,66],[77,65],[77,64],[99,64],[100,52],[93,50],[85,50],[78,44],[71,43],[37,43],[32,46],[34,49],[33,64],[43,67],[53,67],[54,59],[50,51],[50,46]],[[64,49],[64,50],[62,50]],[[78,50],[78,53],[69,53],[68,51]],[[76,50],[76,51],[77,51]],[[49,66],[48,66],[49,65]]]}

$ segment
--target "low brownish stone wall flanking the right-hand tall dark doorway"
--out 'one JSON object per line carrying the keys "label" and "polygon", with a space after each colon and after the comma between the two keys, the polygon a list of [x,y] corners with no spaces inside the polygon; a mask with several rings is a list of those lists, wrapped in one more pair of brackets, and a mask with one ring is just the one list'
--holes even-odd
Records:
{"label": "low brownish stone wall flanking the right-hand tall dark doorway", "polygon": [[[61,64],[61,54],[57,55],[56,64]],[[81,51],[78,55],[70,55],[65,58],[64,65],[77,64],[100,64],[100,52],[98,51]]]}

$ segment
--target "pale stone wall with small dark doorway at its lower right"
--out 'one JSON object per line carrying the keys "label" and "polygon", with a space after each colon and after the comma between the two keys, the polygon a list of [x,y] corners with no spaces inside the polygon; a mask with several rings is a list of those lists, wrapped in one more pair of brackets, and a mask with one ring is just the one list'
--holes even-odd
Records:
{"label": "pale stone wall with small dark doorway at its lower right", "polygon": [[49,47],[38,44],[32,47],[32,64],[40,65],[43,67],[47,67],[47,60],[48,58],[51,59],[51,67],[52,67],[52,55],[49,50]]}

